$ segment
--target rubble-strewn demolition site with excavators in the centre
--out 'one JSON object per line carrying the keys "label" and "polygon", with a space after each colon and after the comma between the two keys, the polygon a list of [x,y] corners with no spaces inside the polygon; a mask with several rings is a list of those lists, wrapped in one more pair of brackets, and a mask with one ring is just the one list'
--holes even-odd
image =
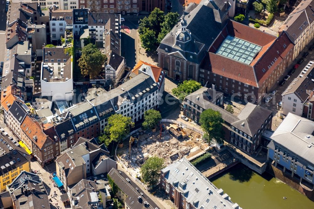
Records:
{"label": "rubble-strewn demolition site with excavators in the centre", "polygon": [[165,159],[165,164],[183,157],[196,158],[209,149],[201,134],[177,124],[164,123],[162,131],[149,134],[135,134],[129,142],[117,150],[117,156],[128,168],[139,172],[140,166],[146,159],[158,156]]}

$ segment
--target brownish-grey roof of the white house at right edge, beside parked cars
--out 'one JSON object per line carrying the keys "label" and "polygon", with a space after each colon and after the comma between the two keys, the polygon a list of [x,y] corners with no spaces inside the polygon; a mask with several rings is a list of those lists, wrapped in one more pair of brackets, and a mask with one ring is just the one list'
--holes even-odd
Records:
{"label": "brownish-grey roof of the white house at right edge, beside parked cars", "polygon": [[310,61],[300,74],[303,77],[295,78],[281,95],[284,96],[294,93],[301,102],[304,103],[314,90],[314,82],[312,81],[312,79],[314,79],[313,64],[314,61]]}

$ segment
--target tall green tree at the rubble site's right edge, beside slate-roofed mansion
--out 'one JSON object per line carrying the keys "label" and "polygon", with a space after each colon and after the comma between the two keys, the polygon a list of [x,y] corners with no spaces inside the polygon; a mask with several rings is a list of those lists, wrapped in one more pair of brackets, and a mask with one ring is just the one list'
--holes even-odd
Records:
{"label": "tall green tree at the rubble site's right edge, beside slate-roofed mansion", "polygon": [[222,129],[224,120],[219,111],[207,109],[202,112],[200,117],[201,127],[204,131],[204,139],[209,143],[212,140],[219,144],[224,143],[225,133]]}

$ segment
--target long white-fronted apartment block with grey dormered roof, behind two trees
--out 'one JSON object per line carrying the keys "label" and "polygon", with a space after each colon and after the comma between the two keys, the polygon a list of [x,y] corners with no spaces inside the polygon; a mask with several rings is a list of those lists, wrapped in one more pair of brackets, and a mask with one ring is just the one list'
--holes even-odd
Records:
{"label": "long white-fronted apartment block with grey dormered roof, behind two trees", "polygon": [[86,98],[95,106],[100,117],[100,131],[108,125],[108,117],[114,113],[141,121],[144,111],[158,108],[158,87],[154,80],[145,73],[140,73],[131,80],[122,83],[109,92],[98,92]]}

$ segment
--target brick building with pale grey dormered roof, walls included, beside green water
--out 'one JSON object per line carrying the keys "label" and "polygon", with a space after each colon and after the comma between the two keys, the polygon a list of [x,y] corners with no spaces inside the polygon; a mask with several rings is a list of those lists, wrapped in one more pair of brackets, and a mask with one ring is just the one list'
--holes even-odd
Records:
{"label": "brick building with pale grey dormered roof, walls included, beside green water", "polygon": [[161,170],[160,185],[177,208],[241,209],[224,190],[213,185],[186,158]]}

